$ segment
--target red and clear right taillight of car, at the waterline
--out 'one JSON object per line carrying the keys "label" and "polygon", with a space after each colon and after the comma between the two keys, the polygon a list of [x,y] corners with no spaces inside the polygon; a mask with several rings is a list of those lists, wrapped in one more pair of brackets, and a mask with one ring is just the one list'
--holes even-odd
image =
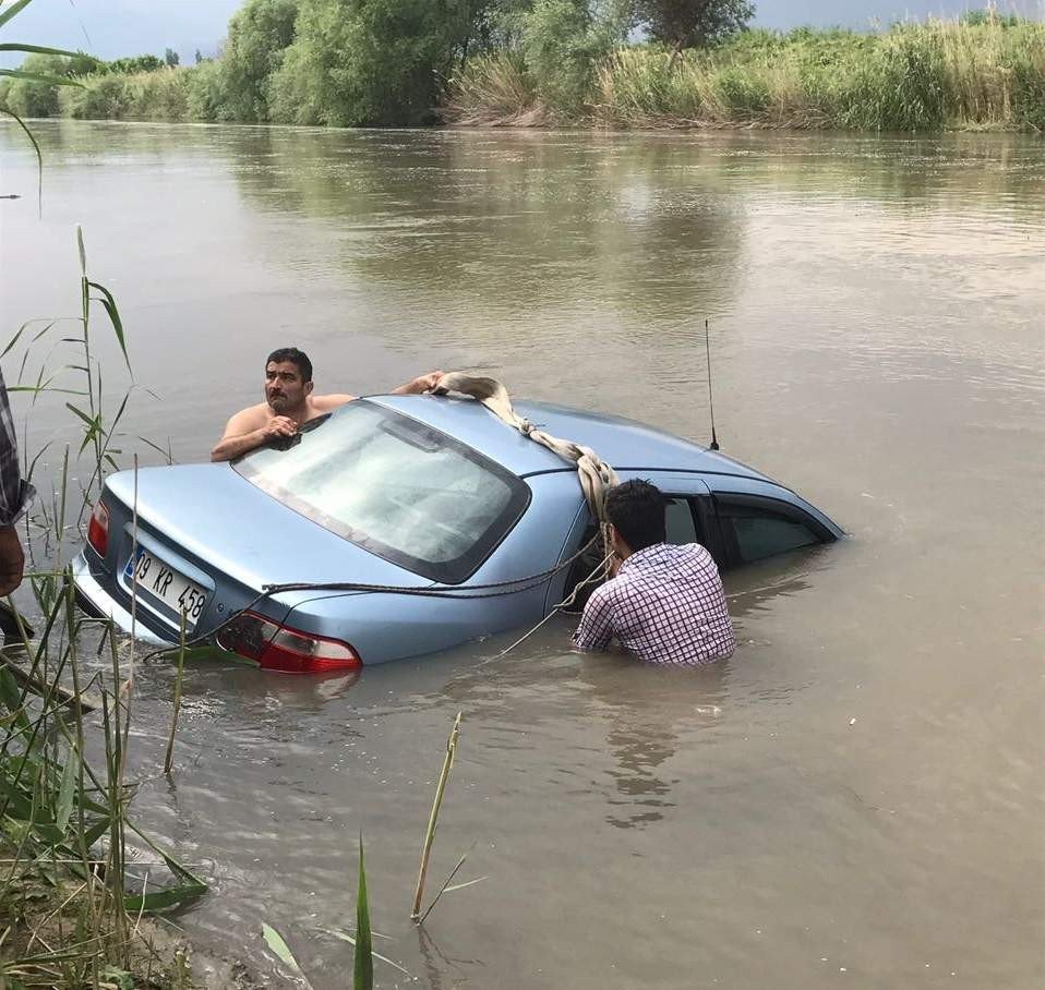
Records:
{"label": "red and clear right taillight of car, at the waterline", "polygon": [[339,639],[327,639],[280,626],[254,612],[244,612],[217,636],[224,650],[253,660],[266,671],[285,674],[319,674],[324,671],[359,669],[359,654]]}

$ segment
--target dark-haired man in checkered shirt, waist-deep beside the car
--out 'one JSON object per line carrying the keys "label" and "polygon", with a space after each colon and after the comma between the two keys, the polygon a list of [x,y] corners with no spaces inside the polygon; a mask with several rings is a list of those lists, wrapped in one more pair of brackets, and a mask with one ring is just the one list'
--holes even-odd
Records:
{"label": "dark-haired man in checkered shirt, waist-deep beside the car", "polygon": [[722,579],[698,543],[665,543],[664,496],[648,481],[606,493],[615,576],[585,606],[574,642],[605,650],[616,640],[647,663],[696,665],[733,652]]}

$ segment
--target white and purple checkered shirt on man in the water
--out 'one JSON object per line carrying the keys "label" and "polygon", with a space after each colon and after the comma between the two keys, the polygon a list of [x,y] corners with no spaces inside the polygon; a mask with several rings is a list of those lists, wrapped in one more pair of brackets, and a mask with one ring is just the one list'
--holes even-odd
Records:
{"label": "white and purple checkered shirt on man in the water", "polygon": [[654,543],[632,554],[597,588],[574,642],[605,650],[616,639],[647,663],[694,665],[733,652],[733,624],[722,579],[698,543]]}

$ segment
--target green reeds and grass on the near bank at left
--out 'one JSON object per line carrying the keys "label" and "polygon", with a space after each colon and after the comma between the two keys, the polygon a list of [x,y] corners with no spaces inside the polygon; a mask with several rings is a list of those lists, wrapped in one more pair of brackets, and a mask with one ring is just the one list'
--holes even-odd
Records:
{"label": "green reeds and grass on the near bank at left", "polygon": [[[104,408],[95,305],[105,310],[124,359],[125,339],[112,295],[87,274],[79,232],[77,241],[82,311],[72,319],[72,336],[60,341],[73,348],[75,363],[52,373],[41,367],[28,385],[20,375],[12,388],[34,399],[47,391],[71,396],[67,406],[81,426],[79,454],[88,463],[87,481],[74,492],[70,466],[77,455],[67,447],[50,499],[41,499],[26,523],[35,538],[31,548],[43,543],[50,560],[34,564],[28,576],[40,633],[34,637],[16,616],[17,641],[0,651],[0,987],[140,986],[143,979],[178,986],[188,979],[184,961],[158,962],[141,918],[185,903],[206,885],[130,818],[133,654],[124,664],[111,626],[76,611],[72,578],[62,566],[68,536],[80,532],[86,507],[116,467],[111,440],[127,401],[112,415]],[[4,353],[20,340],[47,343],[49,336],[68,335],[67,325],[26,325]],[[35,466],[41,454],[27,459]],[[107,672],[97,665],[92,672],[85,663],[87,642],[99,655],[107,648]],[[100,751],[97,760],[88,758],[92,749]],[[132,845],[142,854],[133,865]],[[156,883],[157,870],[168,878],[166,885]]]}

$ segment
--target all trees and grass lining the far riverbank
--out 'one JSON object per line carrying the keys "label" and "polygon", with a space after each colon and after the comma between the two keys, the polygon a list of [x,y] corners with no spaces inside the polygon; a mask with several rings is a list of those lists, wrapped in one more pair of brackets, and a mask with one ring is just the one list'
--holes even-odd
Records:
{"label": "all trees and grass lining the far riverbank", "polygon": [[[216,60],[52,60],[34,68],[82,86],[12,85],[8,102],[31,117],[334,126],[1045,130],[1041,22],[986,12],[780,34],[743,29],[750,15],[747,0],[247,0]],[[629,44],[636,27],[650,40]]]}

